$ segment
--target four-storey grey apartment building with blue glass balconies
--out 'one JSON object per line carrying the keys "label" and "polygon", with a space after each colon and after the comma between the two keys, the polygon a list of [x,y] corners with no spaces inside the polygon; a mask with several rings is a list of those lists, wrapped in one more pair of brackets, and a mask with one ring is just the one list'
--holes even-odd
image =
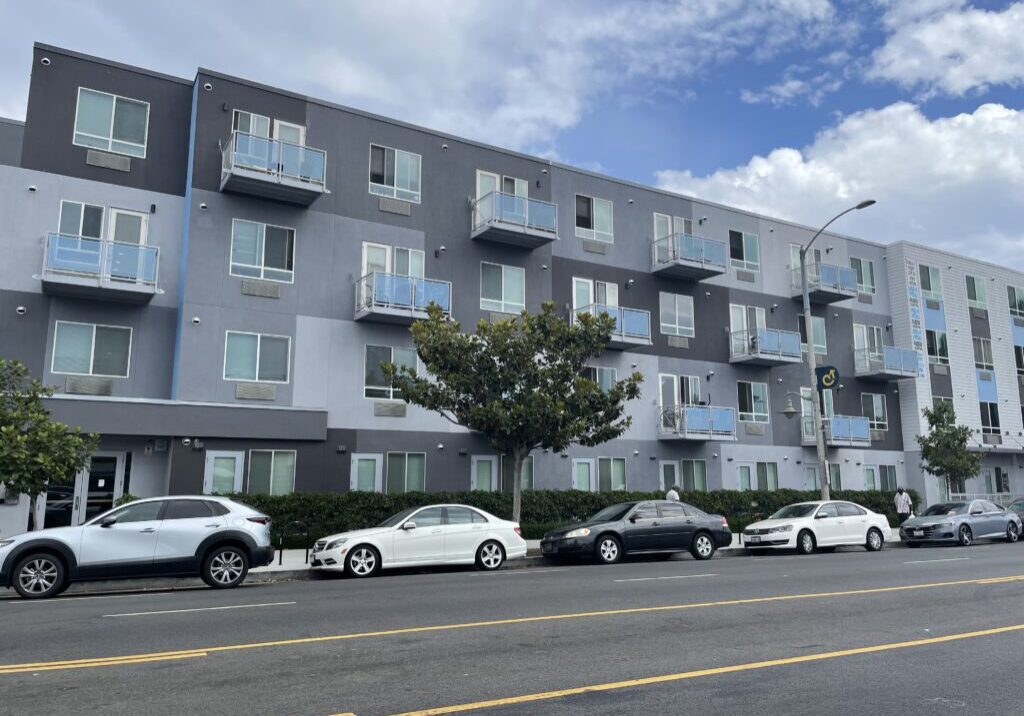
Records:
{"label": "four-storey grey apartment building with blue glass balconies", "polygon": [[[808,350],[841,375],[835,485],[938,499],[914,435],[951,399],[985,456],[964,490],[1024,492],[1024,275],[1005,267],[826,234],[806,327],[810,227],[42,44],[26,121],[0,121],[0,355],[102,435],[47,523],[127,493],[813,489]],[[614,315],[593,376],[645,376],[620,439],[513,476],[378,369],[416,365],[409,325],[431,301],[472,327],[548,300]],[[24,521],[7,502],[0,521]]]}

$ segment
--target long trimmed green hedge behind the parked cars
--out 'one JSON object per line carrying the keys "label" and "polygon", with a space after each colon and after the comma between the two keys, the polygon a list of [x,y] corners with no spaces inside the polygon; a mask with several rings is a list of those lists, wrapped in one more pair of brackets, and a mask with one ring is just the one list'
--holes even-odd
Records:
{"label": "long trimmed green hedge behind the parked cars", "polygon": [[[835,499],[856,502],[868,509],[889,516],[896,524],[893,510],[894,493],[841,491]],[[292,495],[231,495],[273,519],[271,525],[274,544],[284,540],[287,547],[305,547],[305,533],[309,541],[348,530],[373,527],[395,512],[410,507],[439,503],[458,503],[486,510],[506,519],[512,516],[512,496],[508,493],[406,493],[382,495],[379,493],[294,493]],[[545,532],[560,524],[580,521],[598,510],[629,500],[651,500],[664,497],[662,493],[584,493],[571,490],[537,490],[522,495],[522,532],[526,539],[540,539]],[[806,500],[817,500],[817,492],[778,490],[775,492],[737,492],[719,490],[710,493],[684,493],[683,502],[699,509],[722,514],[729,520],[733,532],[763,519],[785,505]],[[916,493],[910,491],[913,504],[921,504]]]}

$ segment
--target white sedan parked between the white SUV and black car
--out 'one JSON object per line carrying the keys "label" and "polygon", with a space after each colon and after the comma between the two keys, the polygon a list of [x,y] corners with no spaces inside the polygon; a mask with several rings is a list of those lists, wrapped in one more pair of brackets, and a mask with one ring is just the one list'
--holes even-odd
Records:
{"label": "white sedan parked between the white SUV and black car", "polygon": [[313,545],[313,570],[370,577],[380,570],[476,564],[497,570],[526,556],[519,525],[476,507],[431,505],[388,517],[376,528],[331,535]]}

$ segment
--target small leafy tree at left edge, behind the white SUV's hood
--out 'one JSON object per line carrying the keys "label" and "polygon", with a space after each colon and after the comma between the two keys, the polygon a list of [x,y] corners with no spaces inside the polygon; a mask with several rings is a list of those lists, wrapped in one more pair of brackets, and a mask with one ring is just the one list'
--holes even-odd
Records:
{"label": "small leafy tree at left edge, behind the white SUV's hood", "polygon": [[0,485],[29,496],[33,529],[39,496],[50,480],[84,469],[99,444],[97,435],[50,418],[43,398],[52,394],[23,364],[0,359]]}

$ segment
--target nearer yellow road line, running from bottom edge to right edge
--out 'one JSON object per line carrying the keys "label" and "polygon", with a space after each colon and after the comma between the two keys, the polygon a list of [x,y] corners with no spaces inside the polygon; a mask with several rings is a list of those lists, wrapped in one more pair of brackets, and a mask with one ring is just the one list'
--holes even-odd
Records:
{"label": "nearer yellow road line, running from bottom edge to right edge", "polygon": [[859,646],[856,648],[846,648],[839,651],[824,651],[820,654],[806,654],[800,657],[790,657],[787,659],[772,659],[764,662],[751,662],[750,664],[735,664],[733,666],[716,667],[712,669],[697,669],[695,671],[684,671],[678,674],[664,674],[662,676],[647,676],[628,681],[611,681],[608,683],[592,684],[590,686],[577,686],[573,688],[562,688],[556,691],[540,691],[538,693],[526,693],[519,697],[508,697],[505,699],[493,699],[490,701],[478,701],[472,704],[459,704],[457,706],[442,706],[434,709],[424,709],[422,711],[408,711],[395,716],[441,716],[442,714],[458,714],[466,711],[476,711],[479,709],[492,709],[496,706],[515,706],[517,704],[529,704],[539,701],[550,701],[552,699],[564,699],[565,697],[579,696],[581,693],[596,693],[600,691],[611,691],[623,688],[636,688],[638,686],[650,686],[652,684],[669,683],[672,681],[683,681],[685,679],[695,679],[701,676],[717,676],[720,674],[733,674],[739,671],[754,671],[756,669],[770,669],[777,666],[788,666],[791,664],[806,664],[807,662],[820,662],[827,659],[841,659],[843,657],[856,657],[863,654],[877,654],[879,651],[891,651],[899,648],[912,648],[915,646],[928,646],[930,644],[941,644],[947,641],[959,641],[963,639],[973,639],[980,636],[993,636],[995,634],[1007,634],[1010,632],[1024,631],[1024,624],[1015,624],[1010,627],[998,627],[995,629],[983,629],[981,631],[965,632],[962,634],[948,634],[946,636],[935,636],[928,639],[914,639],[913,641],[896,641],[888,644],[878,644],[874,646]]}

